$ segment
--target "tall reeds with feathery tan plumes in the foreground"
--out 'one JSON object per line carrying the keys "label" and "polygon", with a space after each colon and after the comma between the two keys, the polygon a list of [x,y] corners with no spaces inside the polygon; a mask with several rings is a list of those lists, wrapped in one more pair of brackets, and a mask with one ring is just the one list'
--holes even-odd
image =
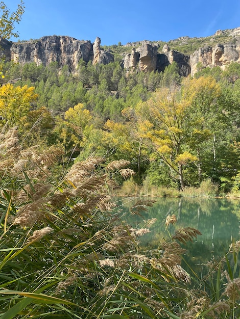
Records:
{"label": "tall reeds with feathery tan plumes in the foreground", "polygon": [[[158,248],[143,251],[155,219],[138,229],[112,212],[109,185],[132,175],[128,162],[89,157],[61,171],[57,148],[22,149],[16,130],[0,141],[1,318],[239,317],[239,242],[205,278],[190,276],[183,246],[198,230],[171,235],[169,216]],[[152,204],[140,200],[129,213]]]}

